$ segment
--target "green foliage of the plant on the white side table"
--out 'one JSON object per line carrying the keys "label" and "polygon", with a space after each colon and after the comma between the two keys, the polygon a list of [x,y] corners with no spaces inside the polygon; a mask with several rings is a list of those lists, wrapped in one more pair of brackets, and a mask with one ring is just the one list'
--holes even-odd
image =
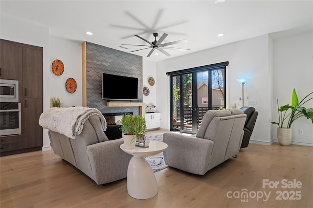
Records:
{"label": "green foliage of the plant on the white side table", "polygon": [[119,123],[120,130],[127,135],[136,135],[140,138],[146,133],[146,120],[141,115],[126,113]]}

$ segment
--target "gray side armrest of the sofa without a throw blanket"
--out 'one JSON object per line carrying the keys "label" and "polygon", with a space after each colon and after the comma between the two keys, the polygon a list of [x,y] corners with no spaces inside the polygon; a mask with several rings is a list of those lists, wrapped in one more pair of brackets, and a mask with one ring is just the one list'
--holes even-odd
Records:
{"label": "gray side armrest of the sofa without a throw blanket", "polygon": [[214,144],[212,140],[166,132],[163,142],[168,145],[164,150],[166,165],[199,175],[207,172]]}

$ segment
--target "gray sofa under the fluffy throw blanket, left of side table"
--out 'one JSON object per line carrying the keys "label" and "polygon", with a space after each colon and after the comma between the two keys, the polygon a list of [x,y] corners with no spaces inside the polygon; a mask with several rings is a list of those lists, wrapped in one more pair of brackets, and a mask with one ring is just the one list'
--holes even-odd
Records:
{"label": "gray sofa under the fluffy throw blanket, left of side table", "polygon": [[[48,116],[52,117],[54,114],[56,113],[50,112]],[[54,153],[81,170],[98,185],[126,178],[128,164],[132,158],[132,155],[119,148],[123,144],[122,138],[108,139],[103,131],[101,119],[104,118],[101,116],[102,114],[89,116],[83,123],[82,131],[76,134],[75,138],[69,138],[56,130],[51,131],[53,127],[48,131]],[[44,123],[45,118],[43,116],[41,123]],[[45,124],[42,126],[49,129]]]}

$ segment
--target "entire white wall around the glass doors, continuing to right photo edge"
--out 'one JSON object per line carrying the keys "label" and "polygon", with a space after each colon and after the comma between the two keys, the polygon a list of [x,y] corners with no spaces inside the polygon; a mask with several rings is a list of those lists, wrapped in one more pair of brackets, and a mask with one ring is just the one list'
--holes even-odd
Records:
{"label": "entire white wall around the glass doors, continuing to right photo edge", "polygon": [[[221,47],[176,57],[156,63],[156,105],[161,112],[161,128],[169,129],[169,77],[166,72],[188,69],[229,61],[226,77],[227,105],[241,97],[241,85],[237,78],[248,78],[245,84],[245,106],[256,101],[259,112],[250,141],[271,144],[276,141],[276,126],[270,122],[277,113],[276,98],[280,103],[291,104],[292,89],[299,98],[313,91],[313,35],[311,32],[293,34],[290,37],[269,35],[251,38]],[[299,78],[295,76],[299,76]],[[312,108],[312,103],[309,104]],[[300,118],[292,127],[292,143],[313,146],[313,125]],[[299,134],[299,129],[304,134]]]}

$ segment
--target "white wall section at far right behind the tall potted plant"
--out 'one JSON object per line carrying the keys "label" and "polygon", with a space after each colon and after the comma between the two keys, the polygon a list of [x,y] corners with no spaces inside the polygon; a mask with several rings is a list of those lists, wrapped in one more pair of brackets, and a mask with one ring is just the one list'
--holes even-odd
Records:
{"label": "white wall section at far right behind the tall potted plant", "polygon": [[[299,101],[313,92],[313,33],[274,39],[273,45],[273,120],[278,122],[277,99],[279,106],[291,105],[292,90],[295,88]],[[313,108],[313,102],[305,107]],[[287,122],[286,124],[287,125]],[[277,139],[276,125],[272,138]],[[313,125],[311,120],[301,117],[291,126],[292,144],[313,146]],[[304,133],[300,134],[299,130]]]}

